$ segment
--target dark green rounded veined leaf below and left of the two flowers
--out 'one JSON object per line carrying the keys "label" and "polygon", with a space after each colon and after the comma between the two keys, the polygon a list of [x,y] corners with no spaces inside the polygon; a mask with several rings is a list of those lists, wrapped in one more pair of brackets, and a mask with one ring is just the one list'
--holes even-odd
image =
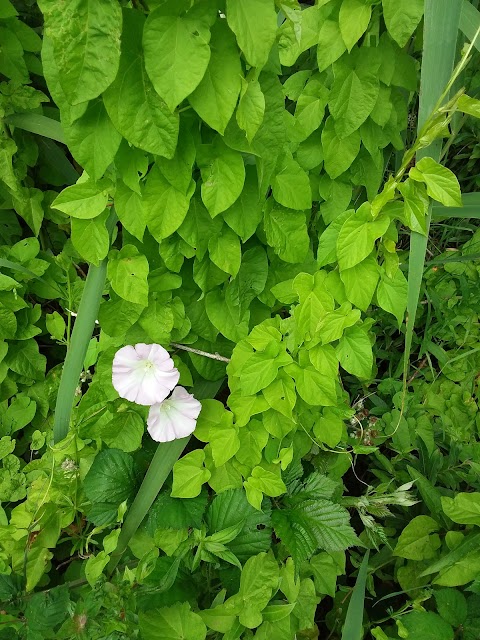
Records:
{"label": "dark green rounded veined leaf below and left of the two flowers", "polygon": [[117,449],[101,451],[85,476],[83,488],[92,503],[88,517],[97,526],[114,522],[120,504],[135,493],[132,457]]}

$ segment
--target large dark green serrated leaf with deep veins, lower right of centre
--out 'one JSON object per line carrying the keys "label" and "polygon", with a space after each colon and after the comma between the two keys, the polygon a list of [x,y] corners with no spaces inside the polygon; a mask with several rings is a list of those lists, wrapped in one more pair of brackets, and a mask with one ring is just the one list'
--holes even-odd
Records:
{"label": "large dark green serrated leaf with deep veins, lower right of centre", "polygon": [[348,511],[329,500],[303,500],[272,514],[275,533],[299,567],[318,549],[343,551],[358,544]]}

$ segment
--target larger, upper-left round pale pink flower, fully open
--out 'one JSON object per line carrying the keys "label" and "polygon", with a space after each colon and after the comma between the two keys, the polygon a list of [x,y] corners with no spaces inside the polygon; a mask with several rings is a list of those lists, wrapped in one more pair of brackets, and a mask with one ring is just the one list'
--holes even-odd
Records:
{"label": "larger, upper-left round pale pink flower, fully open", "polygon": [[179,378],[168,351],[159,344],[122,347],[113,359],[113,386],[119,396],[137,404],[162,402]]}

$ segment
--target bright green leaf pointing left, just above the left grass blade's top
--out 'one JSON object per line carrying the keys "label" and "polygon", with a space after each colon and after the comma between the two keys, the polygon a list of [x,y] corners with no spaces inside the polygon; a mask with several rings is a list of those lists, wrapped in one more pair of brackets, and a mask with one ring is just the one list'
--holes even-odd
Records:
{"label": "bright green leaf pointing left, just above the left grass blade's top", "polygon": [[108,188],[109,184],[102,182],[79,182],[59,193],[51,206],[72,218],[96,218],[107,206]]}

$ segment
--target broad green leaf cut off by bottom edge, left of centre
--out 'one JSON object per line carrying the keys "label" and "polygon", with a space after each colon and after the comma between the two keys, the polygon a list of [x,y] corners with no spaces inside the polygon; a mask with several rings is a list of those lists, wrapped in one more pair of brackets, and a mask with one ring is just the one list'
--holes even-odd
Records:
{"label": "broad green leaf cut off by bottom edge, left of centre", "polygon": [[187,602],[140,612],[139,627],[144,640],[205,640],[207,635],[202,618]]}

